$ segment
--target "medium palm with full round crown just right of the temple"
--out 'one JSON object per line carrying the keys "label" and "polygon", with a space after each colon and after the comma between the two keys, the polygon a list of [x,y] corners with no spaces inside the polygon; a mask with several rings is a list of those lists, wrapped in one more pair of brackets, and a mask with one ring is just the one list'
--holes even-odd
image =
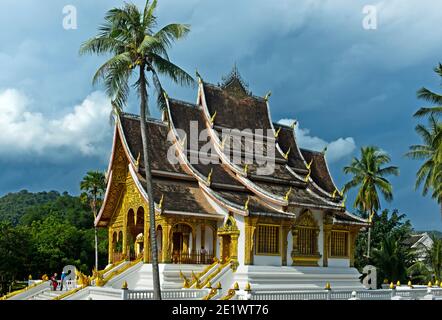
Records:
{"label": "medium palm with full round crown just right of the temple", "polygon": [[[391,161],[390,156],[377,147],[361,148],[361,159],[353,158],[350,166],[344,167],[345,174],[352,174],[353,178],[344,185],[344,192],[359,187],[354,207],[368,215],[371,223],[373,215],[380,209],[381,204],[378,192],[384,199],[393,200],[393,187],[385,178],[387,175],[399,175],[399,168],[395,166],[383,167]],[[367,258],[370,258],[371,228],[368,228]]]}

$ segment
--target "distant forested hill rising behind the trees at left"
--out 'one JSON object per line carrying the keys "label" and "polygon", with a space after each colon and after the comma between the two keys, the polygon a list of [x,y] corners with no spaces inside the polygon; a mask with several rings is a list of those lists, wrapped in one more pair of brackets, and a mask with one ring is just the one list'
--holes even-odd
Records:
{"label": "distant forested hill rising behind the trees at left", "polygon": [[22,190],[0,197],[0,222],[13,226],[30,225],[32,221],[56,216],[79,228],[92,227],[90,209],[67,192],[28,192]]}

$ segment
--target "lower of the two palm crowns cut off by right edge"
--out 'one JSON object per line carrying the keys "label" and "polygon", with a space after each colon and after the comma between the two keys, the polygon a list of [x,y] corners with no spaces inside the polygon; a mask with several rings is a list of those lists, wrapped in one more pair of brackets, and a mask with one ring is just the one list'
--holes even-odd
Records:
{"label": "lower of the two palm crowns cut off by right edge", "polygon": [[419,124],[415,130],[423,144],[410,146],[410,151],[405,154],[411,159],[424,161],[416,173],[415,188],[423,184],[424,196],[433,189],[432,198],[440,204],[442,214],[442,123],[431,115],[428,127]]}

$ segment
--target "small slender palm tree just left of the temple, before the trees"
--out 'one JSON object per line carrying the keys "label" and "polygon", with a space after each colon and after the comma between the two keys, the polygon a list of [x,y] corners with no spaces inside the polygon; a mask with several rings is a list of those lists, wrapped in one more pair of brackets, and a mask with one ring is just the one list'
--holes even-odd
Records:
{"label": "small slender palm tree just left of the temple, before the trees", "polygon": [[[100,171],[89,171],[80,182],[80,189],[83,193],[80,199],[88,203],[94,214],[94,221],[97,219],[98,208],[103,201],[103,195],[106,190],[104,173]],[[95,228],[95,270],[98,271],[98,230]]]}

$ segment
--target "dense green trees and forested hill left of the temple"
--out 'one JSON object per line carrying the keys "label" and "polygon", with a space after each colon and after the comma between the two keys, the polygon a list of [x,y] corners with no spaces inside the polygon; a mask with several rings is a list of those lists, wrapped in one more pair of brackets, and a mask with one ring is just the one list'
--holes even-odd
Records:
{"label": "dense green trees and forested hill left of the temple", "polygon": [[[98,232],[99,267],[107,263],[107,232]],[[0,197],[0,296],[2,284],[60,274],[72,264],[86,274],[94,265],[90,207],[79,197],[56,191],[26,190]]]}

